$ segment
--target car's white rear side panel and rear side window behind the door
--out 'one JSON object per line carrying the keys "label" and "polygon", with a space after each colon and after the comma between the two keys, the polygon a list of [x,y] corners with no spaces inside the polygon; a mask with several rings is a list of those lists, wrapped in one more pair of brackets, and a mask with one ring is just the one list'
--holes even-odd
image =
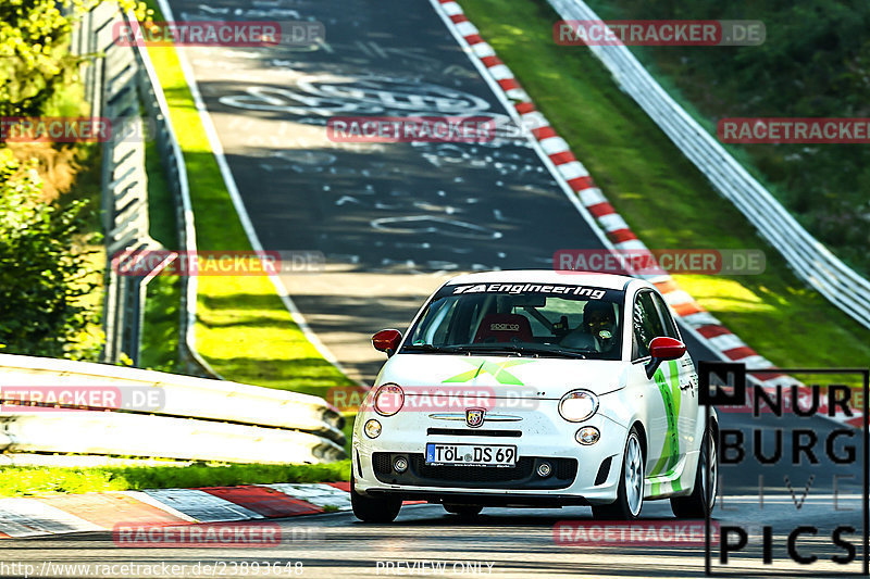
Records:
{"label": "car's white rear side panel and rear side window behind the door", "polygon": [[[656,304],[659,316],[661,317],[663,336],[674,338],[683,341],[680,336],[680,330],[676,323],[671,315],[670,307],[664,303],[664,300],[658,293],[651,292],[652,302]],[[671,360],[662,362],[661,365],[668,365],[667,375],[670,379],[670,389],[674,399],[679,397],[680,403],[676,418],[676,430],[680,438],[680,458],[685,456],[687,452],[697,451],[700,448],[700,440],[697,440],[697,423],[698,423],[698,375],[695,372],[695,364],[688,352],[683,354],[680,360]],[[676,390],[679,388],[679,390]]]}

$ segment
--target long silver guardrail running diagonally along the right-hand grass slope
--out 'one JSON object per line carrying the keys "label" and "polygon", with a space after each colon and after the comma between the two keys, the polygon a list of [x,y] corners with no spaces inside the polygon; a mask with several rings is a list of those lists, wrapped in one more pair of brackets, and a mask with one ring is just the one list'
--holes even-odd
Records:
{"label": "long silver guardrail running diagonally along the right-hand grass slope", "polygon": [[[548,0],[562,20],[600,21],[583,0]],[[792,269],[831,303],[870,328],[870,281],[797,221],[647,73],[624,46],[588,47],[712,186],[749,219]]]}

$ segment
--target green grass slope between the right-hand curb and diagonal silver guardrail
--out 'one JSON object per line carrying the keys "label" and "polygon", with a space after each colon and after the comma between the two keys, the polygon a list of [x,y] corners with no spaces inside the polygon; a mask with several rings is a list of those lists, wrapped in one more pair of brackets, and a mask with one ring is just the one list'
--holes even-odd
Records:
{"label": "green grass slope between the right-hand curb and diagonal silver guardrail", "polygon": [[762,275],[674,276],[705,309],[781,366],[870,363],[870,332],[792,274],[588,49],[554,42],[546,2],[461,4],[648,247],[765,251]]}

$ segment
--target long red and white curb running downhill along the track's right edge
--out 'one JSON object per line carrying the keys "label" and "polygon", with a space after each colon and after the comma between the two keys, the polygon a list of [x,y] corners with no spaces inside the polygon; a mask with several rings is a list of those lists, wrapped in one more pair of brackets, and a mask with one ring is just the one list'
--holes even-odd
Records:
{"label": "long red and white curb running downhill along the track's right edge", "polygon": [[[633,252],[648,251],[644,242],[637,239],[637,236],[634,235],[625,221],[608,202],[601,189],[595,185],[589,172],[574,156],[566,140],[559,137],[547,118],[535,109],[532,99],[514,78],[510,68],[499,60],[493,47],[481,38],[480,30],[469,22],[462,8],[455,0],[432,0],[432,4],[448,28],[451,29],[453,36],[460,39],[460,45],[463,45],[469,58],[482,64],[483,68],[489,74],[495,81],[495,84],[490,84],[493,89],[496,90],[497,85],[498,90],[504,96],[502,100],[512,102],[523,127],[532,133],[540,149],[556,167],[557,177],[561,177],[574,194],[577,196],[583,207],[606,234],[613,248]],[[685,323],[685,326],[694,331],[698,339],[703,340],[711,350],[719,353],[723,360],[742,362],[751,369],[770,368],[770,373],[756,374],[754,376],[766,389],[775,388],[778,385],[782,385],[783,388],[787,388],[791,385],[803,386],[795,378],[775,372],[772,362],[749,348],[743,340],[725,328],[712,314],[701,307],[692,295],[680,289],[680,286],[670,275],[639,277],[654,284],[673,312]],[[826,412],[826,405],[822,404],[819,413]],[[854,412],[856,416],[848,418],[838,413],[835,419],[853,426],[860,426],[862,424],[861,415],[858,411]]]}

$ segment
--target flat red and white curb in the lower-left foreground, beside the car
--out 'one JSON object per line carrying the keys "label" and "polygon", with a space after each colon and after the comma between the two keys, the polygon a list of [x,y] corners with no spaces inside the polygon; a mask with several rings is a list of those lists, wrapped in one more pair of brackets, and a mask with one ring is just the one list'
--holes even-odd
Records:
{"label": "flat red and white curb in the lower-left foreground, beside the car", "polygon": [[349,482],[275,483],[0,499],[0,538],[349,511]]}

